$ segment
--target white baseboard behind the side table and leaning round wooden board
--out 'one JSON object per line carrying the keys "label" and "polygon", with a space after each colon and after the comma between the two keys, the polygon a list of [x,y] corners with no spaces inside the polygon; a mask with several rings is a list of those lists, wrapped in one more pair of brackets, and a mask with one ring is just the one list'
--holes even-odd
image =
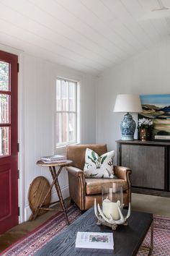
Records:
{"label": "white baseboard behind the side table and leaning round wooden board", "polygon": [[[63,199],[66,199],[67,197],[69,197],[69,189],[68,189],[68,185],[66,187],[62,187],[61,188],[61,192],[63,195]],[[53,192],[53,194],[51,195],[51,202],[57,201],[58,200],[58,195],[57,192]],[[24,221],[28,221],[28,219],[30,218],[32,211],[30,209],[29,205],[25,205],[24,207]]]}

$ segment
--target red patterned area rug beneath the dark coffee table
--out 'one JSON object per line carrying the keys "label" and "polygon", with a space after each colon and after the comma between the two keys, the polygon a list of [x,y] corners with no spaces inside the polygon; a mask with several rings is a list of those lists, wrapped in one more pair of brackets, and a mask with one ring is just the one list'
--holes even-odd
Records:
{"label": "red patterned area rug beneath the dark coffee table", "polygon": [[[68,208],[68,219],[73,222],[81,215],[81,211],[71,205]],[[3,256],[30,256],[34,255],[42,246],[47,244],[55,235],[66,227],[63,212],[57,213],[55,216],[46,221],[42,226],[24,236],[18,242],[12,244],[0,255]],[[150,231],[146,235],[143,245],[150,245]],[[140,251],[138,256],[148,255],[147,252]],[[170,218],[154,216],[154,232],[153,232],[153,252],[152,256],[170,256]]]}

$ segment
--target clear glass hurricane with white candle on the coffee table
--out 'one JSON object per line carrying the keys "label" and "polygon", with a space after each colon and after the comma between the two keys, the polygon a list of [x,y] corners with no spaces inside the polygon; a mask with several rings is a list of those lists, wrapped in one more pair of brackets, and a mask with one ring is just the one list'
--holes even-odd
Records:
{"label": "clear glass hurricane with white candle on the coffee table", "polygon": [[113,218],[117,221],[120,219],[120,213],[117,205],[122,210],[123,194],[122,185],[109,183],[102,186],[102,212],[107,218]]}

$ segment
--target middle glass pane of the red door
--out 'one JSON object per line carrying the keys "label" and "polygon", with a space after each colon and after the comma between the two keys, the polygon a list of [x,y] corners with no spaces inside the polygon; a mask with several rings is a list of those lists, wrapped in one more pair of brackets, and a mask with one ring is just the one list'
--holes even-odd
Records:
{"label": "middle glass pane of the red door", "polygon": [[0,94],[0,123],[9,123],[9,102],[10,96],[5,94]]}

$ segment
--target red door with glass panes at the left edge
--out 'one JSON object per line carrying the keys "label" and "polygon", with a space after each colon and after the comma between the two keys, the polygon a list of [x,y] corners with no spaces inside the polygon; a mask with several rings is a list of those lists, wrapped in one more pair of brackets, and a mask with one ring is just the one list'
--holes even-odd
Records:
{"label": "red door with glass panes at the left edge", "polygon": [[0,51],[0,234],[18,223],[17,56]]}

